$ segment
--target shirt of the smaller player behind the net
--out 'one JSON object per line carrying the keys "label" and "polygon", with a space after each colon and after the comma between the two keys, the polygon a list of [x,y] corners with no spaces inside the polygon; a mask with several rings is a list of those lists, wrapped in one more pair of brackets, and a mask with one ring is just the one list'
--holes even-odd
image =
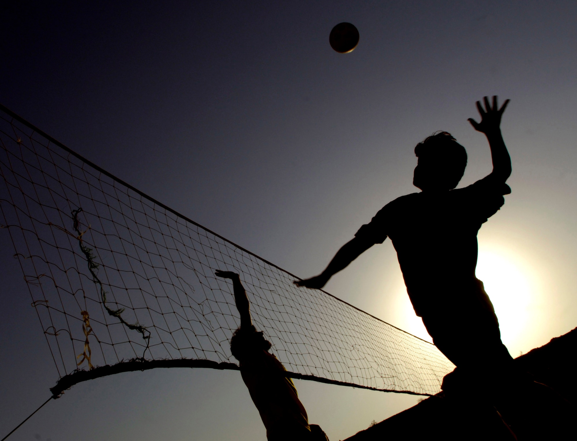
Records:
{"label": "shirt of the smaller player behind the net", "polygon": [[243,348],[245,352],[239,354],[242,379],[267,428],[268,440],[311,439],[306,410],[293,380],[284,376],[282,363],[263,349],[250,349],[248,344]]}

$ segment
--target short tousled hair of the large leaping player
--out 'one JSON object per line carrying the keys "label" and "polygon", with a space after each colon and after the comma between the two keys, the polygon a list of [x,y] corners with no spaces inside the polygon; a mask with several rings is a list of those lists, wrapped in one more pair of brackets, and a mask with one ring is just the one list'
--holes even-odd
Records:
{"label": "short tousled hair of the large leaping player", "polygon": [[467,167],[465,148],[447,131],[438,131],[419,142],[415,155],[428,160],[433,167],[439,167],[440,175],[451,189],[457,186]]}

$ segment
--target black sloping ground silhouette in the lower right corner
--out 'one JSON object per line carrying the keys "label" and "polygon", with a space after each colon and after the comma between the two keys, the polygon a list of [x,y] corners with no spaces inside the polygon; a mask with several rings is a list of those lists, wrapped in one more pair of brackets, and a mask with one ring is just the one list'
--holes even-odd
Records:
{"label": "black sloping ground silhouette in the lower right corner", "polygon": [[[545,383],[575,406],[577,377],[575,376],[575,350],[577,350],[577,328],[561,337],[553,338],[548,344],[531,350],[514,360],[520,371],[529,374],[539,383]],[[542,408],[552,408],[553,415],[541,414],[540,419],[549,418],[550,432],[543,440],[573,439],[575,437],[575,412],[568,415],[567,431],[555,427],[555,409],[558,397],[542,402]],[[557,435],[557,436],[556,436]],[[451,399],[445,392],[421,401],[368,429],[358,432],[345,441],[374,440],[422,440],[442,438],[445,440],[513,440],[512,436],[490,406],[479,401],[475,391],[464,391],[462,399]],[[519,439],[522,439],[519,436]]]}

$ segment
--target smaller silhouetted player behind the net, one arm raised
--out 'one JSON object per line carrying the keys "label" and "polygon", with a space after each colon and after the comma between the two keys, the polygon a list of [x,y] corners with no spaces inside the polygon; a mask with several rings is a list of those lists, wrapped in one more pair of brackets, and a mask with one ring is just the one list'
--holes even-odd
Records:
{"label": "smaller silhouetted player behind the net, one arm raised", "polygon": [[268,352],[271,342],[252,324],[249,299],[238,274],[220,270],[215,274],[233,281],[241,326],[230,340],[230,351],[240,362],[242,380],[267,428],[268,441],[328,441],[318,425],[309,425],[293,380],[284,375],[282,363]]}

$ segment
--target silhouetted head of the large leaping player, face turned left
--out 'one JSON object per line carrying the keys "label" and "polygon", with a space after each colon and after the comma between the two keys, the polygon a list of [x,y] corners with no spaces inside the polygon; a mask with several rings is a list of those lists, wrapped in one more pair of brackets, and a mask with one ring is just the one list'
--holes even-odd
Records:
{"label": "silhouetted head of the large leaping player, face turned left", "polygon": [[450,133],[441,131],[415,147],[418,157],[413,185],[421,190],[454,189],[467,166],[467,152]]}

